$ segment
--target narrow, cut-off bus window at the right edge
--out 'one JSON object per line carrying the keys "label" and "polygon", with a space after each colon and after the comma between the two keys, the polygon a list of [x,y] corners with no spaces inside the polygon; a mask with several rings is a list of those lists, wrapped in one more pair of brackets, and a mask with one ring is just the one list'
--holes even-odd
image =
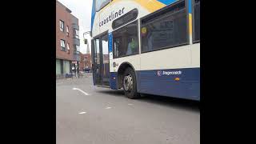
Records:
{"label": "narrow, cut-off bus window at the right edge", "polygon": [[200,42],[200,0],[193,2],[193,43]]}

